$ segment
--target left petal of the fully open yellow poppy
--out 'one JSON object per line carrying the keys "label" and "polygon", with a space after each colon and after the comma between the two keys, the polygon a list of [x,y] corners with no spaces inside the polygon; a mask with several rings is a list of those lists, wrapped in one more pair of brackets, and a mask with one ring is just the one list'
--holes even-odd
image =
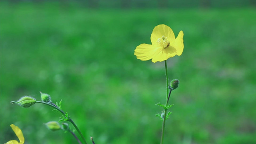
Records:
{"label": "left petal of the fully open yellow poppy", "polygon": [[156,51],[159,48],[161,47],[148,45],[148,44],[140,44],[134,50],[134,55],[137,57],[137,59],[140,59],[140,60],[150,60],[157,54]]}

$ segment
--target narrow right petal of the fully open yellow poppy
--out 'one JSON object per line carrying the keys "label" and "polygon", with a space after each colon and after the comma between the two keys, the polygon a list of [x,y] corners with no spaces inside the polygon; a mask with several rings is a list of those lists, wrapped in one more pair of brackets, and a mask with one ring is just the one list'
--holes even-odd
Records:
{"label": "narrow right petal of the fully open yellow poppy", "polygon": [[177,55],[182,55],[184,44],[183,44],[183,31],[180,31],[179,35],[170,43],[170,46],[177,50]]}

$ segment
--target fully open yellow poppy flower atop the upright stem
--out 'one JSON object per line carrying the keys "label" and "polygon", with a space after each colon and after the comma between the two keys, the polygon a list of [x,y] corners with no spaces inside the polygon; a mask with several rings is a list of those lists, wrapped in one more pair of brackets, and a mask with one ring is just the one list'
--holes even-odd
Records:
{"label": "fully open yellow poppy flower atop the upright stem", "polygon": [[160,24],[153,29],[151,34],[151,43],[140,44],[134,50],[134,55],[140,60],[150,60],[152,62],[164,61],[175,55],[182,55],[183,31],[175,38],[171,28],[165,24]]}

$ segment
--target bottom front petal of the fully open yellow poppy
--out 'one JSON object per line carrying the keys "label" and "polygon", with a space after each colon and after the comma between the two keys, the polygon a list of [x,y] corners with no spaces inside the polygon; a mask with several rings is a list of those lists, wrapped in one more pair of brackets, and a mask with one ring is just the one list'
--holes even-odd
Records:
{"label": "bottom front petal of the fully open yellow poppy", "polygon": [[152,62],[164,61],[176,55],[176,49],[169,46],[169,48],[158,48]]}

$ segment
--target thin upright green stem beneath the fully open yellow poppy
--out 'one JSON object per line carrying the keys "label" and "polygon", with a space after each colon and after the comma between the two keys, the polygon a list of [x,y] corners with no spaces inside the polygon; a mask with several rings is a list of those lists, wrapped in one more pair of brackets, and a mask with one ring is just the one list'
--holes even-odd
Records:
{"label": "thin upright green stem beneath the fully open yellow poppy", "polygon": [[[169,93],[169,88],[168,88],[169,80],[168,80],[167,62],[166,62],[166,60],[164,60],[164,63],[165,63],[165,75],[166,75],[166,101],[165,101],[165,106],[167,106],[168,101],[169,101],[169,97],[171,95],[171,91]],[[168,95],[168,93],[169,93],[169,95]],[[167,109],[164,109],[164,118],[163,118],[162,135],[161,135],[161,142],[160,142],[160,144],[163,144],[166,115],[167,115]]]}

